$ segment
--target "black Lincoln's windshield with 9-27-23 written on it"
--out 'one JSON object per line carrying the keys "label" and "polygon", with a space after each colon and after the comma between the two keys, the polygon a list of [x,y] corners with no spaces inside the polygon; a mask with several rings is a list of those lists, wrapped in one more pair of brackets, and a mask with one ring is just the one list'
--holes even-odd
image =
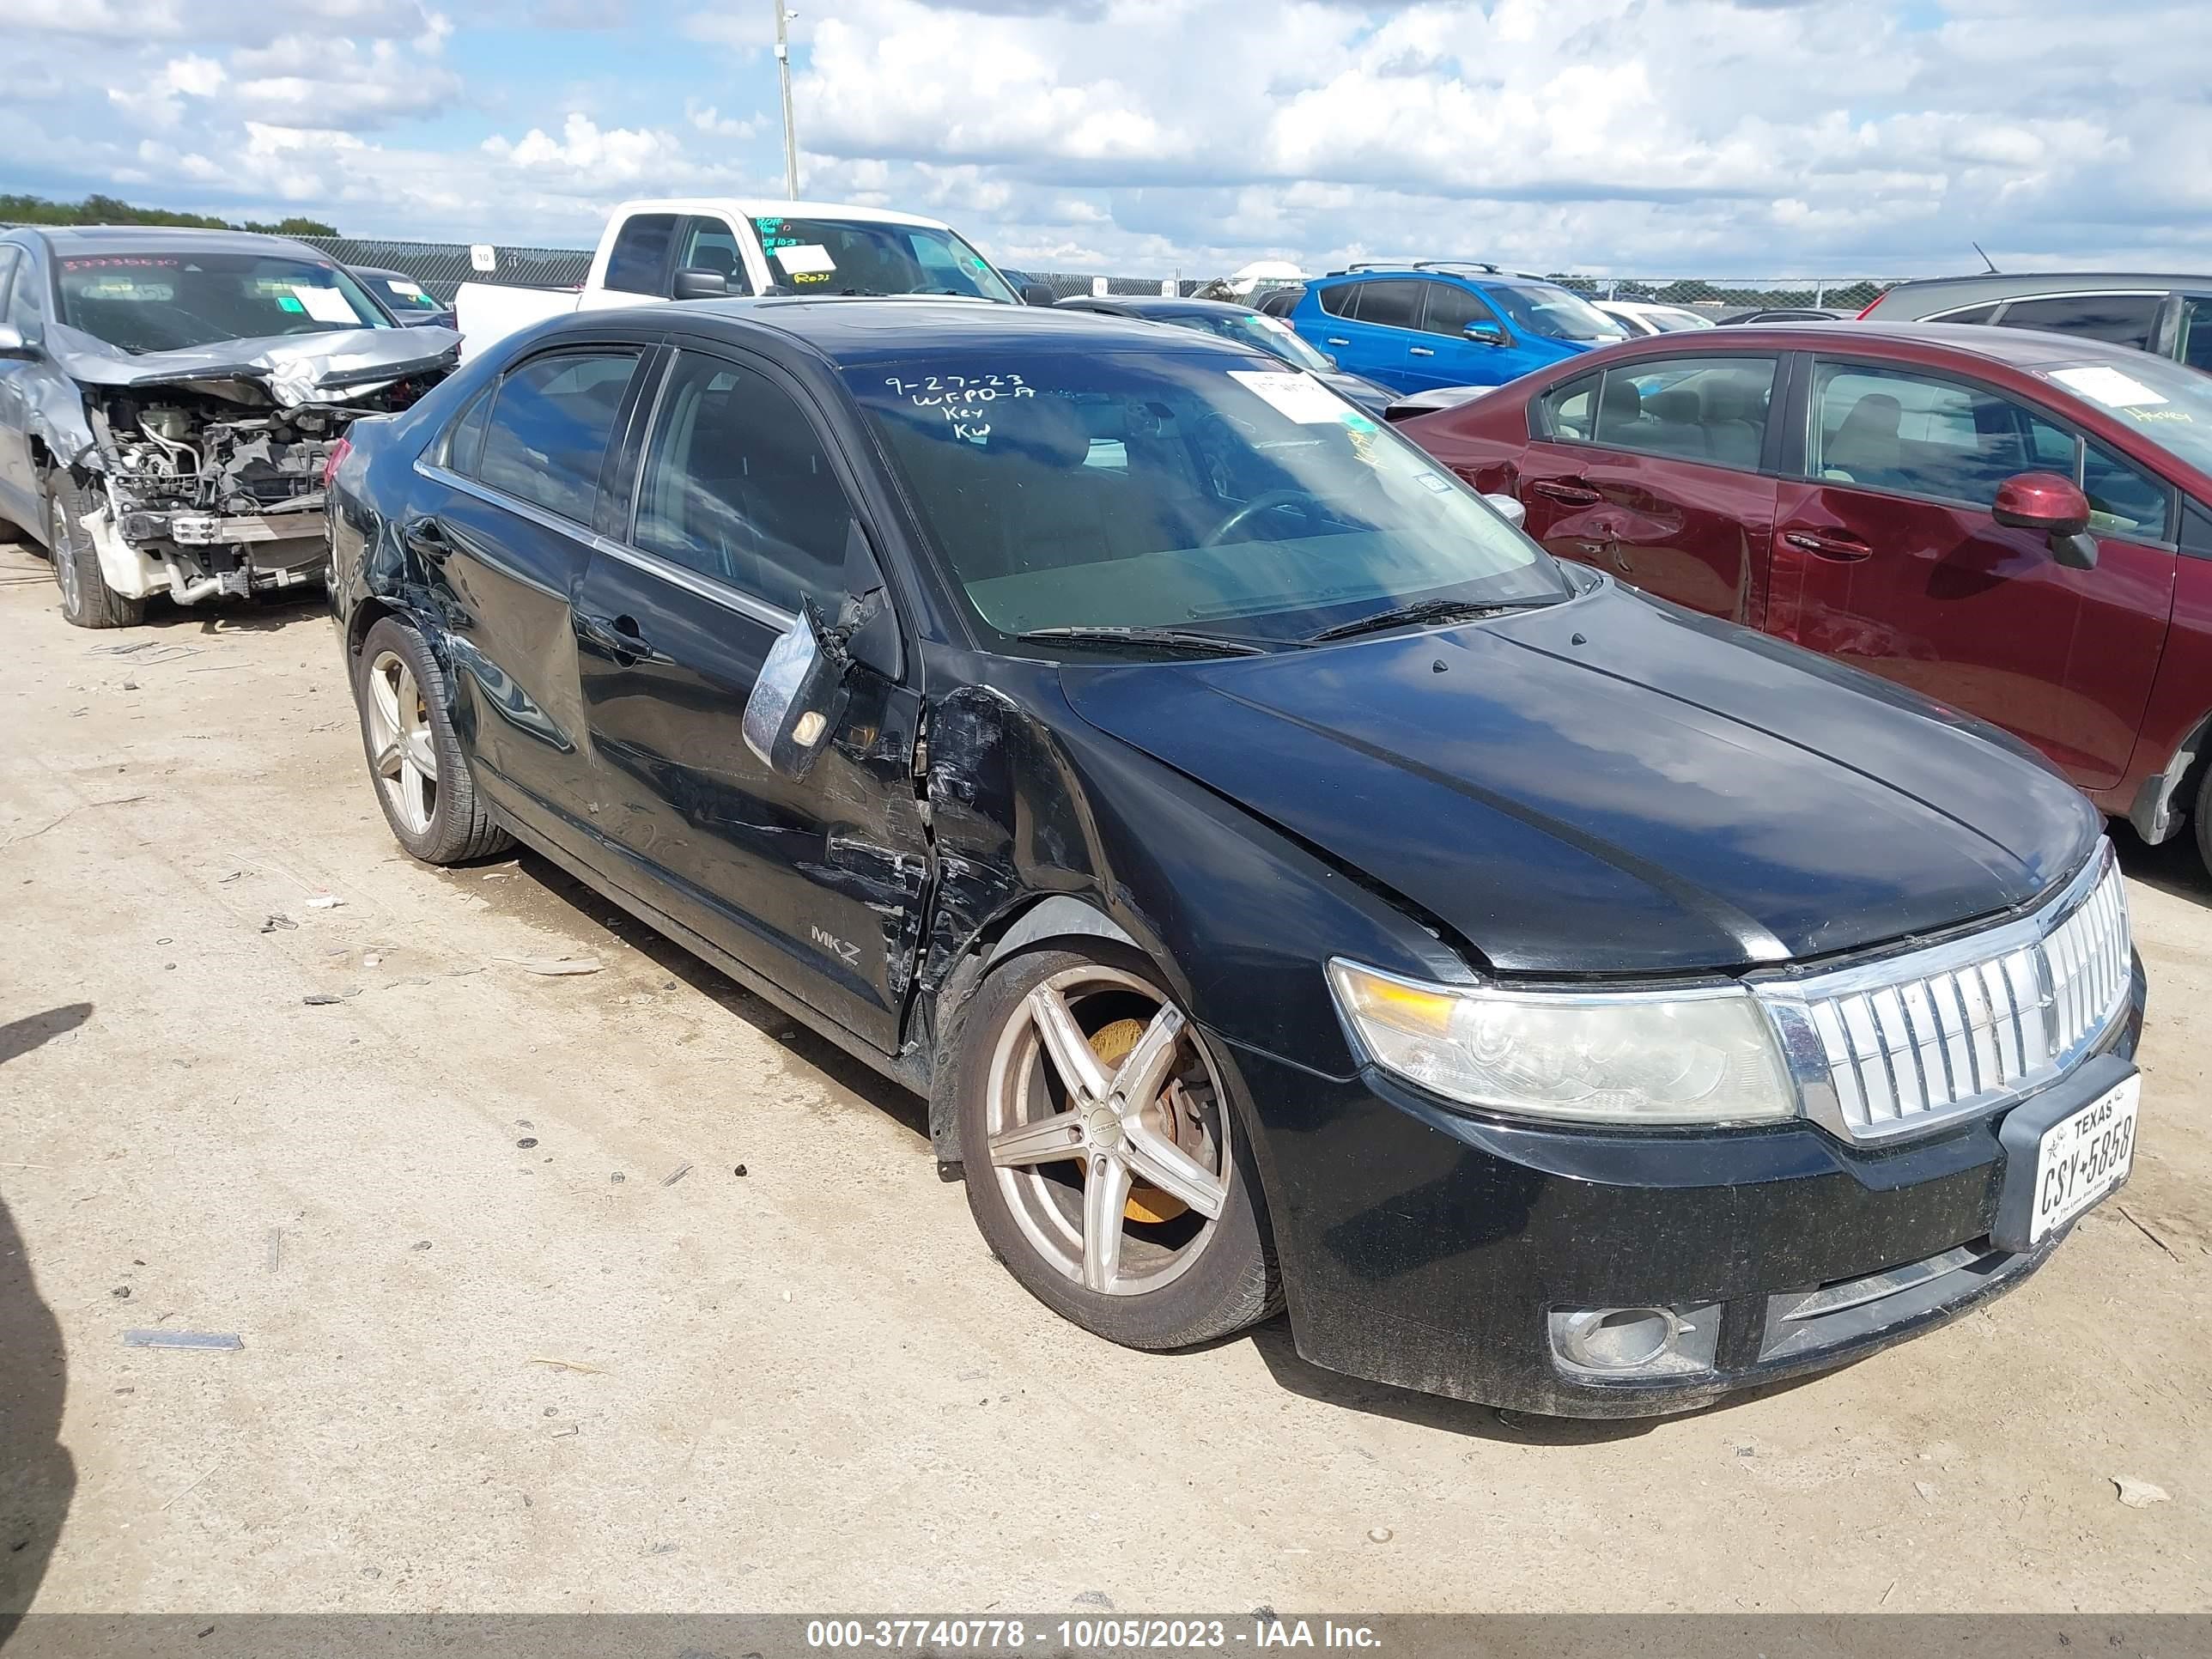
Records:
{"label": "black Lincoln's windshield with 9-27-23 written on it", "polygon": [[1241,354],[987,349],[845,378],[998,635],[1290,644],[1411,599],[1568,595],[1542,549],[1420,449]]}

